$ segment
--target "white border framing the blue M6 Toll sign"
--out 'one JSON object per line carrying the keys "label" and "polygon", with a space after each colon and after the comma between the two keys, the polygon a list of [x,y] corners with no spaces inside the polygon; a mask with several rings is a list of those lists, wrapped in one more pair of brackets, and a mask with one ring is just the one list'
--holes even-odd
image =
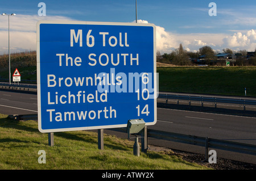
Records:
{"label": "white border framing the blue M6 Toll sign", "polygon": [[[157,121],[157,76],[156,76],[156,27],[151,23],[119,23],[119,22],[83,22],[83,21],[60,21],[60,20],[40,20],[36,23],[36,72],[37,72],[37,95],[38,95],[38,129],[41,133],[65,132],[65,131],[81,131],[93,129],[108,129],[108,128],[124,128],[127,124],[118,125],[103,125],[96,127],[76,127],[76,128],[57,128],[57,129],[42,129],[41,119],[41,83],[40,83],[40,24],[90,24],[90,25],[112,25],[112,26],[148,26],[153,28],[154,32],[154,121],[145,125],[154,125]],[[128,120],[127,120],[128,122]]]}

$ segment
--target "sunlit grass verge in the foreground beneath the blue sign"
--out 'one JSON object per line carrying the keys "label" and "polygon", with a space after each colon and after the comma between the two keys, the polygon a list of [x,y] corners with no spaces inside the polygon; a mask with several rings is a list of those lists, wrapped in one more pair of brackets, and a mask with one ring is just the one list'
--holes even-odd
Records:
{"label": "sunlit grass verge in the foreground beneath the blue sign", "polygon": [[[16,121],[0,114],[0,169],[133,169],[199,170],[207,167],[189,163],[171,154],[148,151],[133,155],[134,141],[104,134],[104,150],[97,148],[97,133],[88,131],[40,133],[36,121]],[[46,151],[46,164],[38,163],[39,150]]]}

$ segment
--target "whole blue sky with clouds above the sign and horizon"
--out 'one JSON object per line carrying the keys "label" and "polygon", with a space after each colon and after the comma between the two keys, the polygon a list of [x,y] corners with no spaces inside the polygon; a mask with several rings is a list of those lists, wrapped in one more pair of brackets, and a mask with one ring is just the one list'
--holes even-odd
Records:
{"label": "whole blue sky with clouds above the sign and horizon", "polygon": [[[42,6],[46,5],[45,16]],[[212,5],[213,3],[213,5]],[[40,12],[41,14],[40,14]],[[0,14],[10,16],[11,53],[36,50],[36,22],[79,20],[135,23],[135,0],[0,0]],[[138,23],[156,26],[156,49],[171,53],[183,48],[196,52],[208,45],[218,53],[254,51],[255,0],[137,0]],[[8,53],[8,16],[0,15],[0,54]]]}

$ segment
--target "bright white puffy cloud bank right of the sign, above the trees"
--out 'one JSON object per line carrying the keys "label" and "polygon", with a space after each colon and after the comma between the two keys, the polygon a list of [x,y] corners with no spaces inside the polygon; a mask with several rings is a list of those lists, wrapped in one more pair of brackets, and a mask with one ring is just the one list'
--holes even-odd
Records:
{"label": "bright white puffy cloud bank right of the sign, above the trees", "polygon": [[[138,20],[138,23],[148,23],[146,20]],[[248,51],[256,48],[256,30],[232,31],[233,35],[226,33],[172,33],[163,27],[156,26],[156,49],[160,53],[170,53],[179,47],[196,52],[199,48],[208,45],[214,50],[221,52],[224,48],[234,50],[246,49]]]}

